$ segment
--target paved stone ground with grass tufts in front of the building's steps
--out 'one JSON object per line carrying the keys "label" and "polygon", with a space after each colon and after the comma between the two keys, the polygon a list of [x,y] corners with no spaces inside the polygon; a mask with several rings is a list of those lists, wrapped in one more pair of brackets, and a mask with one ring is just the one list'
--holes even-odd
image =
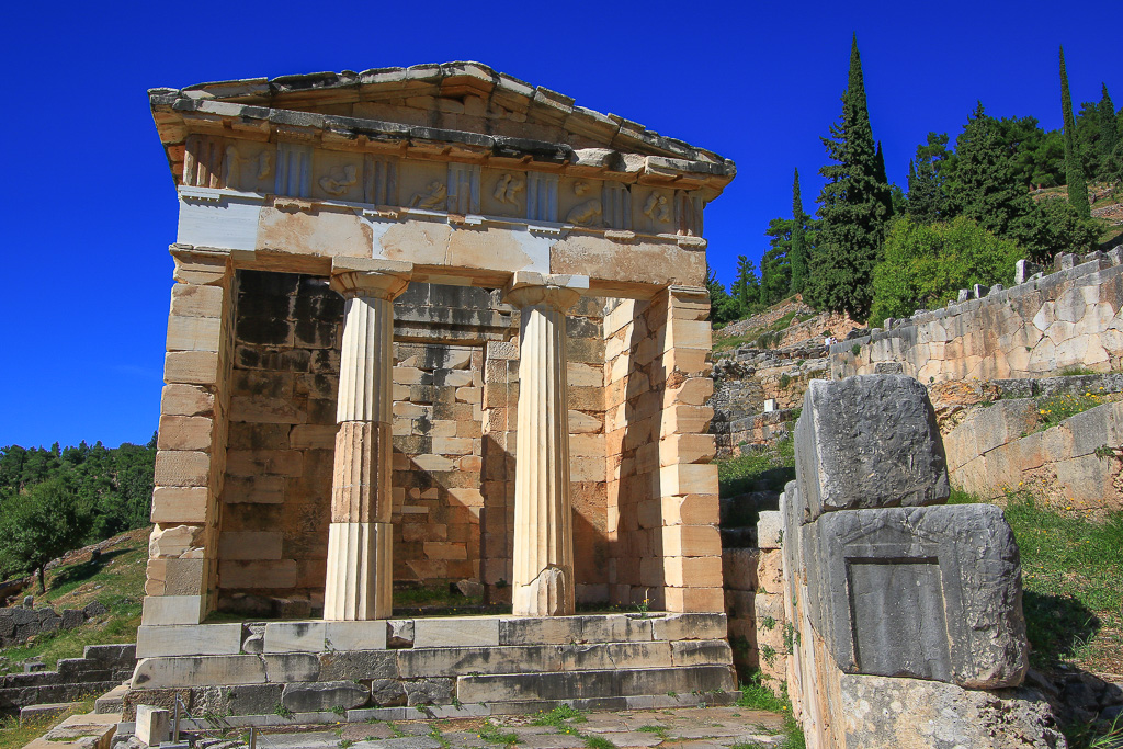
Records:
{"label": "paved stone ground with grass tufts in front of the building's steps", "polygon": [[[541,724],[544,718],[554,724]],[[258,732],[257,749],[748,749],[780,746],[783,725],[783,715],[737,706],[590,712],[567,720],[544,713],[268,728]]]}

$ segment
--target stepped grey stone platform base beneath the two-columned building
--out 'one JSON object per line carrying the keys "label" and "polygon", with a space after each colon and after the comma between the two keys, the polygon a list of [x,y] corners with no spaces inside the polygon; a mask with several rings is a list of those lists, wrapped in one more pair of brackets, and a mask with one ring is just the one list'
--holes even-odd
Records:
{"label": "stepped grey stone platform base beneath the two-columned building", "polygon": [[138,704],[171,706],[176,696],[197,718],[321,722],[535,712],[563,702],[724,704],[736,687],[724,614],[141,627],[137,655],[125,720]]}

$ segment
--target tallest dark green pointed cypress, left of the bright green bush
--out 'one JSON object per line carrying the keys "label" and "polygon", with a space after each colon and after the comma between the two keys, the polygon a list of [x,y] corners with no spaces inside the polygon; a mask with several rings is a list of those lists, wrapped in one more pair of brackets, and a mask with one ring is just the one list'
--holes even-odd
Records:
{"label": "tallest dark green pointed cypress, left of the bright green bush", "polygon": [[812,296],[833,312],[865,320],[873,302],[873,273],[880,252],[883,227],[889,218],[889,191],[866,104],[858,37],[850,47],[850,74],[842,93],[842,116],[823,138],[834,164],[820,170],[827,177],[819,194],[819,256]]}

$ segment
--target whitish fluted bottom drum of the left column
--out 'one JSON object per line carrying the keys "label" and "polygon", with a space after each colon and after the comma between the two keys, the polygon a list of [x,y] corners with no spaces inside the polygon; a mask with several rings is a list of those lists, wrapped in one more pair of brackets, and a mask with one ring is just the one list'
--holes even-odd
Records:
{"label": "whitish fluted bottom drum of the left column", "polygon": [[325,621],[389,619],[393,610],[393,526],[337,523],[328,527]]}

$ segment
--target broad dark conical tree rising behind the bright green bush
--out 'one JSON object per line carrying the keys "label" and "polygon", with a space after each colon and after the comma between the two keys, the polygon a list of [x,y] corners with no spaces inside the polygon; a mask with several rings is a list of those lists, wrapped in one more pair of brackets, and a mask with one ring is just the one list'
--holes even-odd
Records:
{"label": "broad dark conical tree rising behind the bright green bush", "polygon": [[1011,152],[982,102],[956,139],[956,171],[948,181],[952,213],[999,237],[1012,237],[1015,222],[1032,205],[1017,181]]}

